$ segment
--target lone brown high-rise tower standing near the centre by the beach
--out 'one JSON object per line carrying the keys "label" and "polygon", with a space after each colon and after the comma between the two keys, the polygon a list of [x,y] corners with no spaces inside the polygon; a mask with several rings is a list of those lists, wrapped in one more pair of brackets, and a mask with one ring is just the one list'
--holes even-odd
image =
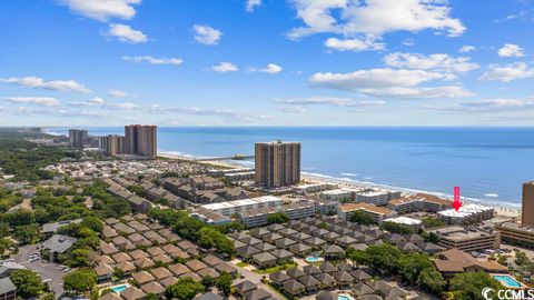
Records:
{"label": "lone brown high-rise tower standing near the centre by the beach", "polygon": [[299,142],[258,142],[255,156],[256,183],[278,188],[300,181]]}

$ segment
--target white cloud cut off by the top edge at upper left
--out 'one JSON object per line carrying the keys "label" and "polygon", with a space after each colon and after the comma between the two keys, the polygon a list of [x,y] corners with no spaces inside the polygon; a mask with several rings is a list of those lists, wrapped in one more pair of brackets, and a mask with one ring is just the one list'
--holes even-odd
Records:
{"label": "white cloud cut off by the top edge at upper left", "polygon": [[136,16],[134,6],[141,0],[60,0],[60,3],[78,14],[107,21],[110,18],[129,20]]}

